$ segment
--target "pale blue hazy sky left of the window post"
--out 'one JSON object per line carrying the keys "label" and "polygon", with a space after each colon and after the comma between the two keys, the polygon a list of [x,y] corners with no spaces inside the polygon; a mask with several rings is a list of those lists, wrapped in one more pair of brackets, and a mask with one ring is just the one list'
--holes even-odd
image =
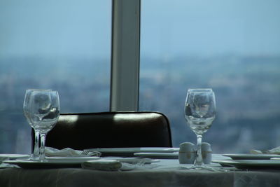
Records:
{"label": "pale blue hazy sky left of the window post", "polygon": [[0,55],[109,56],[111,0],[0,0]]}

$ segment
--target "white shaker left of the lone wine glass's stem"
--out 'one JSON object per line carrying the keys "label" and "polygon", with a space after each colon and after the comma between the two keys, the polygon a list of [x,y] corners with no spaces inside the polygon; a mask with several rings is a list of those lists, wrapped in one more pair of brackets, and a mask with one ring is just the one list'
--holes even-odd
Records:
{"label": "white shaker left of the lone wine glass's stem", "polygon": [[193,164],[195,162],[195,145],[193,143],[180,144],[179,162],[180,164]]}

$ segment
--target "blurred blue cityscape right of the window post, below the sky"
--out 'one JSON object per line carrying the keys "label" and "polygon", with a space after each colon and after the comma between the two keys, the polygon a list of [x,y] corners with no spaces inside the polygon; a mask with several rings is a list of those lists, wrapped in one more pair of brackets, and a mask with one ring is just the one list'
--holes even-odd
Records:
{"label": "blurred blue cityscape right of the window post, below the sky", "polygon": [[280,57],[235,56],[142,59],[140,109],[162,111],[174,146],[196,137],[186,125],[188,88],[213,88],[217,116],[203,141],[216,153],[280,146]]}

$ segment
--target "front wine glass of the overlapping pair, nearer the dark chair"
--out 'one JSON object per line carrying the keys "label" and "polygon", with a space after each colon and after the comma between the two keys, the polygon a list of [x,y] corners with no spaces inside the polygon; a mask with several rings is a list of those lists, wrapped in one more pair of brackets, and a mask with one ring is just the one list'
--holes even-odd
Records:
{"label": "front wine glass of the overlapping pair, nearer the dark chair", "polygon": [[41,137],[39,160],[45,162],[45,137],[59,118],[60,104],[57,91],[34,91],[31,93],[31,122]]}

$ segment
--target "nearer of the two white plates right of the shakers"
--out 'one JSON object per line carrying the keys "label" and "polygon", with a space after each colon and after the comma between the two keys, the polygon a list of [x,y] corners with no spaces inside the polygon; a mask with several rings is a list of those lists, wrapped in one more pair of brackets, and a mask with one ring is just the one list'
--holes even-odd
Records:
{"label": "nearer of the two white plates right of the shakers", "polygon": [[280,160],[212,160],[212,162],[241,169],[280,169]]}

